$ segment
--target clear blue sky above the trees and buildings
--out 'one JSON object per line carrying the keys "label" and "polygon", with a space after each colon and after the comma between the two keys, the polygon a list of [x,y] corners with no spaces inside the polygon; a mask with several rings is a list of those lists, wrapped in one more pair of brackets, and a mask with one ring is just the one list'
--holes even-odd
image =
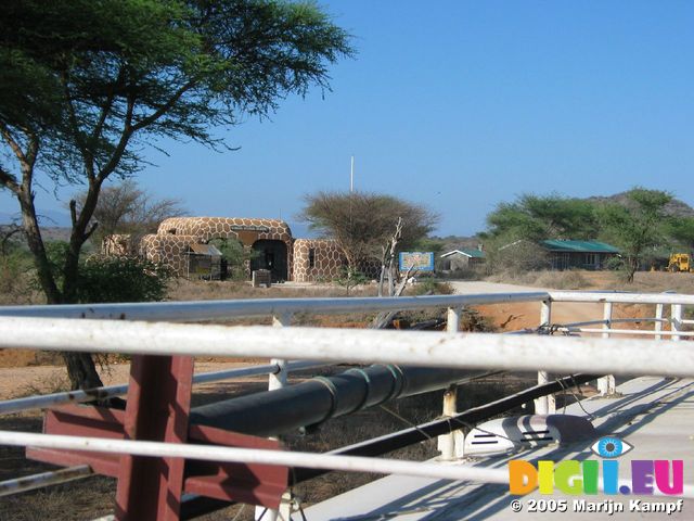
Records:
{"label": "clear blue sky above the trees and buildings", "polygon": [[[141,186],[192,215],[295,224],[304,194],[349,188],[354,154],[356,188],[429,206],[438,234],[481,230],[524,192],[640,185],[694,205],[694,2],[320,3],[358,51],[333,91],[222,131],[236,152],[159,143]],[[64,212],[72,190],[44,186],[41,207]]]}

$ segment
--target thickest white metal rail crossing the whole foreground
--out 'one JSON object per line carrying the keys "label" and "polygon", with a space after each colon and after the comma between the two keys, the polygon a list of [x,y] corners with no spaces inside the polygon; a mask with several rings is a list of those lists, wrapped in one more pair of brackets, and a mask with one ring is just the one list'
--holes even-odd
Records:
{"label": "thickest white metal rail crossing the whole foreground", "polygon": [[0,318],[0,347],[130,355],[308,357],[333,363],[461,369],[542,367],[564,373],[694,374],[694,350],[668,342],[668,356],[654,359],[655,345],[635,339]]}

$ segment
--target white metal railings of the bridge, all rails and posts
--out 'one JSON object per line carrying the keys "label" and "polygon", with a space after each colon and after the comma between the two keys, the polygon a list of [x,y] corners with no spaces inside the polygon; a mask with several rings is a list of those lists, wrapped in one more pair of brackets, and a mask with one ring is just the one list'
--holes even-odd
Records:
{"label": "white metal railings of the bridge, all rails and posts", "polygon": [[[458,332],[460,314],[466,306],[523,302],[539,303],[537,329],[516,331],[515,334]],[[554,303],[602,304],[603,318],[573,323],[553,323],[552,305]],[[654,314],[641,318],[614,318],[616,304],[654,306]],[[530,390],[530,394],[524,396],[527,399],[536,399],[538,414],[548,414],[554,411],[551,393],[561,389],[552,385],[554,381],[554,378],[550,377],[552,373],[694,376],[694,352],[679,342],[682,338],[694,334],[684,330],[686,325],[694,323],[693,320],[683,318],[683,306],[691,305],[694,305],[694,296],[691,295],[551,291],[399,298],[290,298],[3,307],[0,308],[0,347],[120,353],[147,357],[153,355],[267,357],[271,359],[270,364],[197,374],[194,381],[269,374],[270,390],[285,386],[291,371],[334,363],[407,364],[480,370],[537,370],[538,387]],[[666,306],[670,306],[669,317],[665,314]],[[292,317],[298,313],[337,314],[433,308],[448,309],[446,332],[291,327]],[[267,316],[273,317],[273,328],[171,323]],[[653,328],[634,330],[615,327],[630,326],[633,322],[653,323]],[[564,334],[529,334],[538,332]],[[613,339],[613,335],[618,335],[620,339]],[[625,335],[652,336],[655,343],[651,340],[624,338]],[[663,341],[666,336],[672,341],[667,343],[668,356],[654,356],[658,353],[656,350],[666,345]],[[287,361],[306,359],[309,361]],[[603,393],[612,393],[614,378],[602,379],[600,389]],[[127,385],[118,385],[7,401],[0,403],[0,414],[69,402],[92,401],[94,397],[127,392]],[[511,396],[509,404],[525,398]],[[493,410],[498,414],[499,406]],[[454,410],[454,399],[451,399],[450,394],[445,398],[445,412],[452,418],[461,416]],[[437,429],[439,428],[432,427],[432,432],[436,431],[436,435],[446,436],[441,446],[447,453],[445,456],[450,457],[453,454],[453,437],[451,434],[445,434],[451,430],[450,423],[445,432]],[[393,440],[398,435],[406,436],[406,434],[396,433]],[[505,471],[500,469],[448,467],[348,455],[368,453],[354,449],[337,450],[337,454],[285,453],[224,447],[216,444],[201,446],[190,443],[104,440],[8,431],[0,431],[0,444],[217,462],[279,465],[314,469],[314,472],[316,469],[332,469],[477,480],[490,483],[507,482]],[[60,472],[0,483],[0,493],[18,492],[47,483],[77,479],[87,475],[89,470],[80,467],[73,469],[72,473],[69,470],[67,473],[62,471],[65,475],[61,475]],[[127,516],[123,519],[127,519]]]}

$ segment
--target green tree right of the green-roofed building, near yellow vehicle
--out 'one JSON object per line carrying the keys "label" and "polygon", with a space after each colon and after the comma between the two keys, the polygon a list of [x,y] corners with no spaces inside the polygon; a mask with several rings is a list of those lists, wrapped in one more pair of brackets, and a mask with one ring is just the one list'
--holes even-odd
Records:
{"label": "green tree right of the green-roofed building, near yellow vehicle", "polygon": [[605,204],[600,219],[604,238],[621,250],[619,266],[627,281],[633,282],[644,256],[667,241],[666,205],[672,195],[641,187],[629,190],[626,195],[624,204]]}

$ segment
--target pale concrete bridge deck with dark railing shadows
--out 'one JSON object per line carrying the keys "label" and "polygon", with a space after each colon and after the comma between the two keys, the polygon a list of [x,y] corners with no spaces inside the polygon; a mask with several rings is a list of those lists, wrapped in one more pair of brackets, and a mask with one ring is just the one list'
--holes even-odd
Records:
{"label": "pale concrete bridge deck with dark railing shadows", "polygon": [[[639,508],[668,504],[677,506],[678,496],[630,496],[604,494],[566,496],[560,493],[540,495],[537,491],[518,497],[507,486],[461,483],[441,480],[391,475],[336,496],[306,509],[310,521],[452,521],[507,519],[694,519],[694,380],[642,377],[618,386],[612,398],[593,397],[566,407],[566,412],[588,416],[599,436],[615,434],[633,446],[620,458],[619,478],[630,479],[631,459],[684,460],[684,495],[679,511],[671,514],[632,509],[630,500],[640,499]],[[557,410],[561,412],[562,410]],[[478,465],[506,468],[510,459],[600,459],[591,450],[593,443],[551,445],[509,456],[467,459],[450,465]],[[446,463],[448,465],[448,463]],[[689,494],[687,494],[689,493]],[[514,512],[512,501],[520,501]],[[566,500],[566,512],[530,512],[532,501]],[[602,505],[603,511],[575,511],[580,500]],[[579,501],[578,504],[575,501]],[[624,511],[618,509],[624,507]],[[583,507],[589,508],[589,507]],[[617,509],[615,511],[615,509]]]}

